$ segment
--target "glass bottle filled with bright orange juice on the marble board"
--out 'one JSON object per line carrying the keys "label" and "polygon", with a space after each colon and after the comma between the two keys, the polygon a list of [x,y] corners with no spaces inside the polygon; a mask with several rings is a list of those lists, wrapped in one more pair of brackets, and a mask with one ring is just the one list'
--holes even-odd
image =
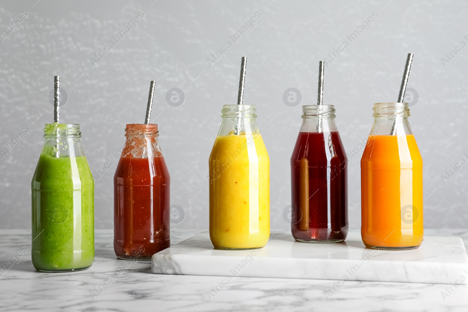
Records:
{"label": "glass bottle filled with bright orange juice on the marble board", "polygon": [[414,249],[423,227],[423,160],[408,103],[375,103],[361,159],[361,235],[367,247]]}

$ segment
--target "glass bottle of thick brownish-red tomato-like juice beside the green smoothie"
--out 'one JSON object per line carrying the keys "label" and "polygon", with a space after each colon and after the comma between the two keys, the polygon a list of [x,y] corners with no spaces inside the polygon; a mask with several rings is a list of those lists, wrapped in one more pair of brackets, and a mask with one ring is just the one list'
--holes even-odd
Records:
{"label": "glass bottle of thick brownish-red tomato-like juice beside the green smoothie", "polygon": [[148,260],[170,246],[170,177],[157,124],[127,124],[125,137],[114,175],[114,251]]}

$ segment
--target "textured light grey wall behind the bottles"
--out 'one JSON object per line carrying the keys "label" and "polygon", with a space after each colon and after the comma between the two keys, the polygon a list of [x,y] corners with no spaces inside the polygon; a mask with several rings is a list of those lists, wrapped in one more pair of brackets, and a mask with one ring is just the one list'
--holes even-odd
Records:
{"label": "textured light grey wall behind the bottles", "polygon": [[[336,105],[336,123],[350,152],[371,129],[373,103],[396,100],[406,54],[414,53],[409,87],[419,101],[410,124],[424,159],[424,223],[466,227],[468,165],[445,184],[441,179],[462,157],[468,160],[468,47],[445,66],[441,62],[461,41],[468,44],[466,1],[36,1],[0,2],[2,32],[22,12],[28,14],[0,43],[0,149],[28,131],[0,160],[0,227],[30,228],[29,183],[44,123],[53,121],[53,76],[60,75],[69,96],[61,121],[81,124],[93,173],[115,160],[125,123],[144,121],[149,81],[158,80],[153,116],[171,174],[171,204],[186,214],[173,226],[206,228],[208,157],[221,105],[236,102],[240,59],[247,56],[244,103],[257,106],[271,159],[271,227],[289,228],[283,218],[290,204],[289,158],[301,105],[316,102],[318,61],[344,40],[349,43],[346,36],[373,12],[379,16],[371,28],[325,68],[324,103]],[[117,43],[112,36],[139,12],[145,17],[138,28]],[[256,12],[262,17],[234,43],[229,36]],[[210,67],[206,58],[228,40],[233,46]],[[90,58],[109,41],[116,47],[93,67]],[[172,87],[186,96],[180,107],[165,100]],[[296,107],[283,102],[289,87],[302,94]],[[360,226],[361,155],[350,157],[353,229]],[[95,183],[97,228],[113,225],[115,167]]]}

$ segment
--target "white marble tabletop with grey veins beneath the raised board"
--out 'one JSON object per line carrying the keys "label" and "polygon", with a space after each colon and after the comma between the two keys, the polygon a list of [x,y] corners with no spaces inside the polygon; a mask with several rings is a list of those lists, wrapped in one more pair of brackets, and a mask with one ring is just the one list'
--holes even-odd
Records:
{"label": "white marble tabletop with grey veins beneath the raised board", "polygon": [[[459,236],[468,244],[468,230],[426,235]],[[173,231],[172,243],[191,236],[190,230]],[[0,268],[17,262],[0,273],[0,311],[468,311],[465,285],[347,281],[340,286],[327,280],[234,277],[221,289],[220,276],[157,275],[150,261],[127,263],[117,273],[125,261],[114,255],[111,230],[96,231],[95,262],[88,270],[40,273],[31,264],[29,231],[0,230],[0,238]],[[337,291],[327,300],[331,287]]]}

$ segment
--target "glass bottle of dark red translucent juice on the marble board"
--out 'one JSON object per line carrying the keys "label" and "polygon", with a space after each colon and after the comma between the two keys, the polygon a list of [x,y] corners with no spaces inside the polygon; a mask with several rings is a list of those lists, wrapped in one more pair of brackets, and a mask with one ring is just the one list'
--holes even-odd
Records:
{"label": "glass bottle of dark red translucent juice on the marble board", "polygon": [[291,156],[291,232],[307,243],[333,243],[348,234],[348,160],[333,105],[302,106]]}

